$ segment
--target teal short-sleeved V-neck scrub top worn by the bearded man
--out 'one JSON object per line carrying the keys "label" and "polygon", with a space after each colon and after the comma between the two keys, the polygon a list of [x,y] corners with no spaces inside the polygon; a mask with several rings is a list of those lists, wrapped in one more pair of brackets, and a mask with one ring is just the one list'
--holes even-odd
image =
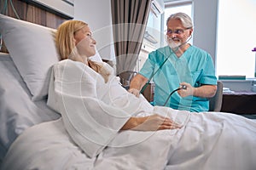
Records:
{"label": "teal short-sleeved V-neck scrub top worn by the bearded man", "polygon": [[[154,105],[164,105],[180,82],[188,82],[195,88],[201,84],[217,84],[211,55],[195,46],[190,46],[179,58],[169,46],[159,48],[148,54],[139,74],[148,80],[153,78]],[[209,100],[195,96],[182,98],[175,92],[166,106],[185,111],[209,111]]]}

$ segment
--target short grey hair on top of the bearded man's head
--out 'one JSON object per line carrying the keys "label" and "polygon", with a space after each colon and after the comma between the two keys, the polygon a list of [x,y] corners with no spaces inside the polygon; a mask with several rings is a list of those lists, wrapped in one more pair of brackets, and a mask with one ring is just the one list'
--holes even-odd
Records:
{"label": "short grey hair on top of the bearded man's head", "polygon": [[189,17],[188,14],[184,14],[184,13],[171,14],[168,17],[168,19],[166,20],[166,26],[168,24],[168,21],[171,20],[171,19],[180,20],[185,28],[192,28],[193,27],[192,20],[191,20],[191,18]]}

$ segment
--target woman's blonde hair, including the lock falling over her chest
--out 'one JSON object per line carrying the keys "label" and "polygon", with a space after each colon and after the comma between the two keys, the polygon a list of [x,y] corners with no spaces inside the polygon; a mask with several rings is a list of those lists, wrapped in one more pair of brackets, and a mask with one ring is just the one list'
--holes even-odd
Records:
{"label": "woman's blonde hair, including the lock falling over her chest", "polygon": [[[84,28],[84,26],[88,26],[88,24],[80,20],[67,20],[58,27],[55,43],[59,54],[61,54],[61,59],[73,59],[73,56],[78,55],[77,50],[75,50],[74,33]],[[91,60],[88,60],[88,64],[94,71],[102,74],[106,81],[109,74],[104,73],[105,71],[102,72],[102,64]]]}

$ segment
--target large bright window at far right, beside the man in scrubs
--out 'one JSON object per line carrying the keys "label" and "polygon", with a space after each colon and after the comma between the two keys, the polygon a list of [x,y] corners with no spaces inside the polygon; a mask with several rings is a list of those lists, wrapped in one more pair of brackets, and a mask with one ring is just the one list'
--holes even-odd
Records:
{"label": "large bright window at far right, beside the man in scrubs", "polygon": [[218,1],[217,75],[254,77],[256,1]]}

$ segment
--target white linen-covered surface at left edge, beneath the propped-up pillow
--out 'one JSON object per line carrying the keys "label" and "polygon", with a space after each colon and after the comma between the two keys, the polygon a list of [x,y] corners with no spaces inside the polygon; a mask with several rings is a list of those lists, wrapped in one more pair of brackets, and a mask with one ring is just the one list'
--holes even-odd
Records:
{"label": "white linen-covered surface at left edge, beneath the propped-up pillow", "polygon": [[0,53],[0,163],[9,145],[26,128],[60,117],[46,105],[46,99],[32,101],[9,54]]}

